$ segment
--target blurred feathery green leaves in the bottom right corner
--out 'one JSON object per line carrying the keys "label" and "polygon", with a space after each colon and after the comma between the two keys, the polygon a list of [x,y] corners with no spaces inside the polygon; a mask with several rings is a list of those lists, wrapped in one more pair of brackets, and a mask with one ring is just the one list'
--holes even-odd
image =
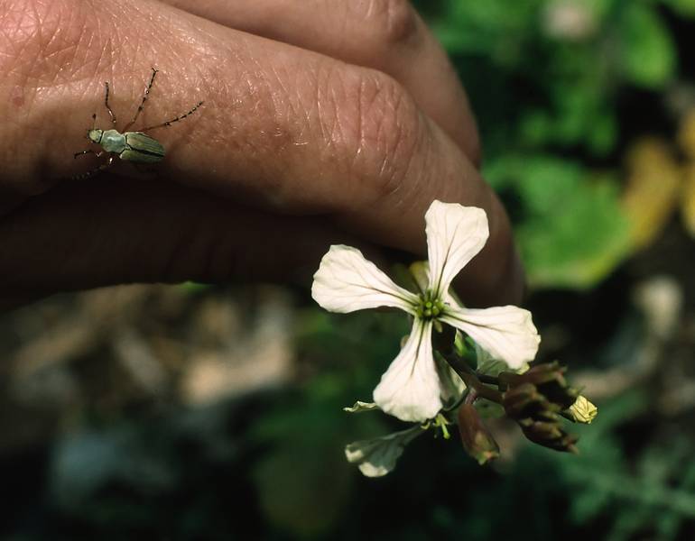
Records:
{"label": "blurred feathery green leaves in the bottom right corner", "polygon": [[[614,431],[626,418],[644,416],[644,394],[633,391],[601,409],[601,424],[585,430],[577,460],[555,457],[561,482],[570,492],[568,516],[577,525],[610,517],[610,541],[647,534],[676,539],[695,520],[695,462],[688,461],[692,442],[677,437],[672,445],[654,441],[636,457]],[[630,460],[632,458],[633,460]],[[635,463],[635,470],[628,466]]]}

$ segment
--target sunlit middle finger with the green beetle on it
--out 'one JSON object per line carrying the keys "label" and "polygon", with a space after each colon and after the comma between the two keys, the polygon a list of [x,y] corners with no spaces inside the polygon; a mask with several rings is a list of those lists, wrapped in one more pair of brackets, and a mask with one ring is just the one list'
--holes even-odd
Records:
{"label": "sunlit middle finger with the green beetle on it", "polygon": [[[420,254],[432,199],[480,206],[491,235],[467,270],[471,289],[493,298],[514,281],[507,274],[514,251],[504,210],[456,144],[393,78],[157,3],[30,4],[10,11],[11,23],[6,12],[0,19],[0,40],[11,44],[0,45],[23,51],[0,59],[3,117],[13,117],[2,109],[15,103],[4,99],[15,87],[26,95],[14,129],[0,126],[0,183],[8,188],[36,193],[86,168],[66,158],[85,133],[80,117],[89,118],[99,105],[105,117],[103,81],[112,82],[109,103],[127,120],[119,112],[139,103],[141,74],[156,59],[159,97],[150,96],[143,123],[206,102],[185,124],[158,133],[168,152],[160,179],[275,213],[328,215],[348,232]],[[56,15],[60,9],[63,16]],[[130,23],[123,26],[125,18]],[[40,28],[32,31],[37,21]],[[142,35],[148,40],[139,40]],[[104,50],[112,48],[123,60],[105,63]]]}

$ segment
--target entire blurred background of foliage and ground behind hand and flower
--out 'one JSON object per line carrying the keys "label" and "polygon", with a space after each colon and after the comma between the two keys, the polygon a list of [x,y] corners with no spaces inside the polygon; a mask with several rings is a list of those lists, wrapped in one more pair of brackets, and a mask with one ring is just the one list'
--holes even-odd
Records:
{"label": "entire blurred background of foliage and ground behind hand and flower", "polygon": [[0,316],[0,538],[695,538],[695,0],[418,7],[477,112],[541,359],[599,407],[579,456],[504,424],[493,467],[347,443],[404,318],[308,291],[133,286]]}

